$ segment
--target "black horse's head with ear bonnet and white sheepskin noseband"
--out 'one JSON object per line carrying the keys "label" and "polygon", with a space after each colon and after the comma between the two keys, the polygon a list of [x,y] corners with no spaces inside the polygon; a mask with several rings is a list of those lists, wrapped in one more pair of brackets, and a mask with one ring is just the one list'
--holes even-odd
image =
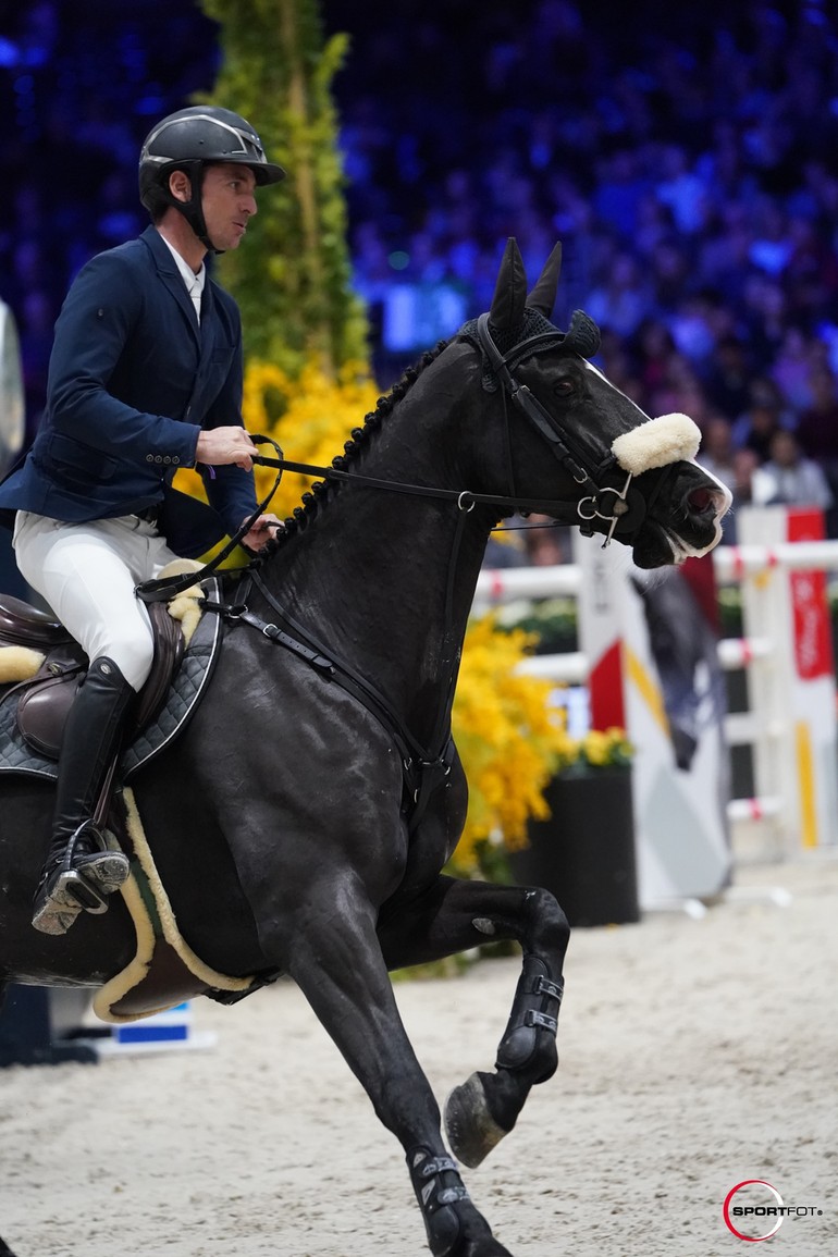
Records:
{"label": "black horse's head with ear bonnet and white sheepskin noseband", "polygon": [[528,294],[509,240],[491,310],[462,329],[481,349],[482,387],[514,403],[505,405],[508,497],[631,546],[638,567],[706,554],[731,499],[695,461],[697,426],[686,415],[650,419],[608,382],[588,361],[599,331],[587,314],[577,310],[568,332],[549,322],[560,265],[557,245]]}

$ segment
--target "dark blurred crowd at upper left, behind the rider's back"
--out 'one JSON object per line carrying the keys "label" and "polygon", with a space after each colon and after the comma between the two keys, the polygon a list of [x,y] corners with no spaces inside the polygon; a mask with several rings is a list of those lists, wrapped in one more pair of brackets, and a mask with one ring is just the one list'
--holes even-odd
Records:
{"label": "dark blurred crowd at upper left, behind the rider's back", "polygon": [[30,435],[72,279],[148,222],[137,192],[143,137],[209,91],[216,68],[216,28],[191,3],[0,9],[0,298],[20,334]]}

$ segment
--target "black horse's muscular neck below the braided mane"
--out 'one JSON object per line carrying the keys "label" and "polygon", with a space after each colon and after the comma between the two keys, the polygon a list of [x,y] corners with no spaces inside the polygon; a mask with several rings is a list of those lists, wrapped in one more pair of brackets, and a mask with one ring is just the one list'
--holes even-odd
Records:
{"label": "black horse's muscular neck below the braided mane", "polygon": [[[428,420],[427,406],[405,402],[400,410],[349,470],[465,488],[446,416],[437,409]],[[265,574],[278,602],[372,681],[421,739],[445,703],[490,527],[485,513],[464,517],[451,500],[344,486]]]}

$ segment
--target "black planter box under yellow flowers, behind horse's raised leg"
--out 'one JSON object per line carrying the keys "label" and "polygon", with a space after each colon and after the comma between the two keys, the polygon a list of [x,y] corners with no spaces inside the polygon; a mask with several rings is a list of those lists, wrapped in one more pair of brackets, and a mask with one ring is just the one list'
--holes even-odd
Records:
{"label": "black planter box under yellow flowers, behind horse's raised leg", "polygon": [[518,884],[552,891],[572,926],[638,921],[631,769],[563,773],[544,794],[549,820],[509,857]]}

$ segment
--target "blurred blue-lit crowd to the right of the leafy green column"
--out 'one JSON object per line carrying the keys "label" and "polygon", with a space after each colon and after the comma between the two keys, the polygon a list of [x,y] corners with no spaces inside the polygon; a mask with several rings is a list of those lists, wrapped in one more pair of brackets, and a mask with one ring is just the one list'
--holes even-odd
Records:
{"label": "blurred blue-lit crowd to the right of the leafy green column", "polygon": [[410,57],[377,26],[344,72],[381,361],[485,309],[508,235],[533,278],[560,239],[557,318],[596,318],[609,378],[691,415],[737,503],[820,505],[838,535],[834,6],[500,8],[417,19]]}

